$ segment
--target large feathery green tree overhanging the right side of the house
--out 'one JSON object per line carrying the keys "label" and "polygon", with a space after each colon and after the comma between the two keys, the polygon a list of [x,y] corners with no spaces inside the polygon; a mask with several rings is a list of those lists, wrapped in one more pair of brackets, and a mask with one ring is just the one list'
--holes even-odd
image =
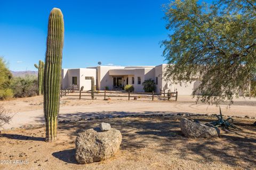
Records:
{"label": "large feathery green tree overhanging the right side of the house", "polygon": [[197,100],[233,102],[256,73],[256,2],[220,0],[213,4],[177,0],[165,6],[165,77],[175,82],[200,80]]}

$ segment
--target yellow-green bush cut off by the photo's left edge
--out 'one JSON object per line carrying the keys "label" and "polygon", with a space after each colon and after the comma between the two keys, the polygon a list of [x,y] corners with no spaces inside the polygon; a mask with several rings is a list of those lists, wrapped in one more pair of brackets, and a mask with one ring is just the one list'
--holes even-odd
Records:
{"label": "yellow-green bush cut off by the photo's left edge", "polygon": [[10,88],[12,73],[6,66],[3,57],[0,57],[0,100],[12,98],[13,92]]}

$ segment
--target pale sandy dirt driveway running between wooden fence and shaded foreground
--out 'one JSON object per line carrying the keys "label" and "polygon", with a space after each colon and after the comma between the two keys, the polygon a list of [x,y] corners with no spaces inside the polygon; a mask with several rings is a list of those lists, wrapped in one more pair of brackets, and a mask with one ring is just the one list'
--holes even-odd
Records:
{"label": "pale sandy dirt driveway running between wooden fence and shaded foreground", "polygon": [[[44,123],[43,96],[20,98],[10,101],[1,101],[12,114],[15,114],[12,122],[4,128],[19,128],[24,125],[38,125]],[[256,99],[238,98],[234,105],[228,107],[221,105],[222,114],[230,116],[256,117]],[[59,120],[76,119],[77,117],[94,117],[102,115],[124,114],[158,114],[158,113],[195,113],[195,114],[218,114],[219,108],[215,105],[196,104],[191,96],[179,96],[178,101],[166,101],[156,99],[130,100],[90,100],[61,98]]]}

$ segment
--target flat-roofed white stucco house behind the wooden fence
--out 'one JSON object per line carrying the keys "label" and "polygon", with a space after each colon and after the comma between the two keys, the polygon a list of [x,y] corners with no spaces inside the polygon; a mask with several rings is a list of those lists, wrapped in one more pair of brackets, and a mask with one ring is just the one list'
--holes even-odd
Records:
{"label": "flat-roofed white stucco house behind the wooden fence", "polygon": [[[191,83],[171,84],[166,82],[163,72],[167,64],[157,66],[95,66],[79,69],[62,69],[62,89],[73,84],[80,89],[91,89],[91,77],[94,77],[97,90],[122,89],[126,84],[132,84],[135,92],[143,92],[142,82],[152,79],[156,83],[156,92],[160,89],[177,90],[179,95],[191,95],[199,81]],[[166,91],[167,92],[167,91]]]}

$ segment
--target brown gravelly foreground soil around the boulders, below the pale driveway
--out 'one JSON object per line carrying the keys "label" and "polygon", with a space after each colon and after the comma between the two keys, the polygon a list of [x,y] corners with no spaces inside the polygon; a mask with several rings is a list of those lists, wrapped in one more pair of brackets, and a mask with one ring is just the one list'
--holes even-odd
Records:
{"label": "brown gravelly foreground soil around the boulders, below the pale driveway", "polygon": [[[219,138],[188,139],[179,128],[183,116],[105,118],[60,123],[58,141],[44,142],[45,128],[4,131],[0,138],[1,160],[11,164],[0,169],[255,169],[256,132],[253,121],[235,118],[241,130],[221,130]],[[210,116],[189,116],[201,122]],[[114,157],[79,165],[75,138],[84,129],[107,122],[121,131],[123,140]],[[13,164],[27,160],[28,164]]]}

